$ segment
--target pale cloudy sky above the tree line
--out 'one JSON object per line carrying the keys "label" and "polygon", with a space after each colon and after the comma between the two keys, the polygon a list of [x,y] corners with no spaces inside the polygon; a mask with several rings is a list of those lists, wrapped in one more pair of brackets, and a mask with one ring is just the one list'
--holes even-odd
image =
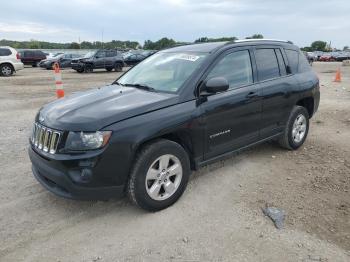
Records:
{"label": "pale cloudy sky above the tree line", "polygon": [[192,42],[255,33],[350,46],[350,0],[0,0],[0,39]]}

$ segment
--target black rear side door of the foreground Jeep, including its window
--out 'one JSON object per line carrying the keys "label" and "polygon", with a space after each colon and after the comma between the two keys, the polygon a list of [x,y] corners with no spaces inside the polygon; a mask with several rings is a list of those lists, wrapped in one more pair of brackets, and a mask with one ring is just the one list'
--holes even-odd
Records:
{"label": "black rear side door of the foreground Jeep, including its window", "polygon": [[294,101],[292,91],[297,85],[293,75],[287,74],[286,61],[278,46],[258,46],[254,50],[263,104],[261,138],[284,130]]}

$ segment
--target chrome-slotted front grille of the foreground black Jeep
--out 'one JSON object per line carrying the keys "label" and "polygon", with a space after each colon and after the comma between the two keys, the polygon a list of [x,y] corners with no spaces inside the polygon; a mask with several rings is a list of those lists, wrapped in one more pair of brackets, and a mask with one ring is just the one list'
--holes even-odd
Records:
{"label": "chrome-slotted front grille of the foreground black Jeep", "polygon": [[42,151],[55,154],[61,134],[60,131],[35,123],[33,126],[31,142],[33,146]]}

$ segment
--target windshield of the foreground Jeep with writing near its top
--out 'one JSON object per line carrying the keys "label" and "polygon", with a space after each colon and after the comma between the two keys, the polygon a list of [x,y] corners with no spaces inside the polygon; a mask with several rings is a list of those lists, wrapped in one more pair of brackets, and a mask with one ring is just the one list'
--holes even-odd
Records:
{"label": "windshield of the foreground Jeep with writing near its top", "polygon": [[157,53],[126,72],[118,83],[143,85],[155,91],[177,92],[207,53]]}

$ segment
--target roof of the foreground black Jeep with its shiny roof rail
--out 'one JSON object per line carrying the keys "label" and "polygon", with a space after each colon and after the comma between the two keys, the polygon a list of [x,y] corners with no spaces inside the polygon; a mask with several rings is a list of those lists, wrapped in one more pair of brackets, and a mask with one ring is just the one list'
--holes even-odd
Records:
{"label": "roof of the foreground black Jeep with its shiny roof rail", "polygon": [[243,40],[236,40],[236,41],[230,41],[230,42],[209,42],[209,43],[199,43],[199,44],[190,44],[190,45],[183,45],[178,47],[173,47],[169,49],[162,50],[162,52],[203,52],[203,53],[210,53],[220,47],[223,47],[225,45],[234,45],[234,44],[242,44],[242,43],[266,43],[266,44],[272,44],[272,43],[285,43],[285,44],[293,44],[291,41],[288,40],[278,40],[278,39],[243,39]]}

